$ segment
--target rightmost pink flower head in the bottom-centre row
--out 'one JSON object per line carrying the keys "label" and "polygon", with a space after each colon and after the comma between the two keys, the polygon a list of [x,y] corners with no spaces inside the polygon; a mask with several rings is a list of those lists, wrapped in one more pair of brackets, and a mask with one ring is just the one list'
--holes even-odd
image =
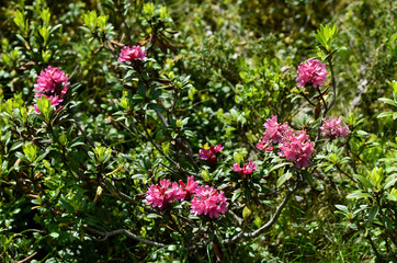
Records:
{"label": "rightmost pink flower head in the bottom-centre row", "polygon": [[191,203],[192,208],[190,213],[195,216],[204,214],[209,216],[209,218],[217,218],[219,214],[227,211],[224,192],[218,194],[214,187],[209,187],[208,185],[197,186]]}

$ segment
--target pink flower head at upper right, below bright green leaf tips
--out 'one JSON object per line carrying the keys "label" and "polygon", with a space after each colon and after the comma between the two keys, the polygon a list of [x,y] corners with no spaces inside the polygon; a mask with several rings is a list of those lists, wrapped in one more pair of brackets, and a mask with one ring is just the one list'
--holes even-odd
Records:
{"label": "pink flower head at upper right, below bright green leaf tips", "polygon": [[326,69],[327,65],[321,64],[318,59],[308,59],[298,66],[298,78],[296,79],[298,88],[305,88],[306,84],[313,84],[318,88],[328,80],[329,72]]}

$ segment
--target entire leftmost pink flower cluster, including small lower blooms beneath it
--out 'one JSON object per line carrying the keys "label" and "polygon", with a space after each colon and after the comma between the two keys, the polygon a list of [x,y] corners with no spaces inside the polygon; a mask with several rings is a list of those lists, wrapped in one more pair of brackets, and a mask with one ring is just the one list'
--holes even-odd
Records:
{"label": "entire leftmost pink flower cluster, including small lower blooms beneath it", "polygon": [[[54,111],[56,111],[56,106],[64,101],[64,95],[68,91],[68,81],[69,78],[63,70],[48,66],[44,71],[41,71],[37,77],[37,83],[34,85],[36,89],[35,96],[47,98],[54,106]],[[42,114],[37,107],[37,103],[34,104],[34,108],[37,114]]]}

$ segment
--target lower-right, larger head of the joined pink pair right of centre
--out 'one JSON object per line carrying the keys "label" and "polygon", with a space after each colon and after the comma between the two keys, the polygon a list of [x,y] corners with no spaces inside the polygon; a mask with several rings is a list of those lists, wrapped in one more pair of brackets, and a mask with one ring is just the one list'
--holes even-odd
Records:
{"label": "lower-right, larger head of the joined pink pair right of centre", "polygon": [[295,161],[298,169],[308,167],[311,162],[309,160],[311,153],[316,151],[306,130],[287,134],[279,149],[279,155],[290,161]]}

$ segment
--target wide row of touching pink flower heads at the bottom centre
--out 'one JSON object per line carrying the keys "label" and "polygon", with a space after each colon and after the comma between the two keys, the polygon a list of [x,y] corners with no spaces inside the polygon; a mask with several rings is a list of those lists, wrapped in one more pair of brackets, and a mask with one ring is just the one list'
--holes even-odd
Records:
{"label": "wide row of touching pink flower heads at the bottom centre", "polygon": [[188,178],[188,184],[184,184],[182,180],[179,181],[179,185],[175,182],[171,184],[170,180],[163,179],[160,181],[160,185],[150,185],[146,193],[146,203],[152,207],[165,209],[172,202],[183,201],[192,195],[191,214],[196,216],[204,214],[209,218],[217,218],[219,214],[227,211],[224,192],[218,194],[214,187],[208,185],[197,186],[193,176]]}

